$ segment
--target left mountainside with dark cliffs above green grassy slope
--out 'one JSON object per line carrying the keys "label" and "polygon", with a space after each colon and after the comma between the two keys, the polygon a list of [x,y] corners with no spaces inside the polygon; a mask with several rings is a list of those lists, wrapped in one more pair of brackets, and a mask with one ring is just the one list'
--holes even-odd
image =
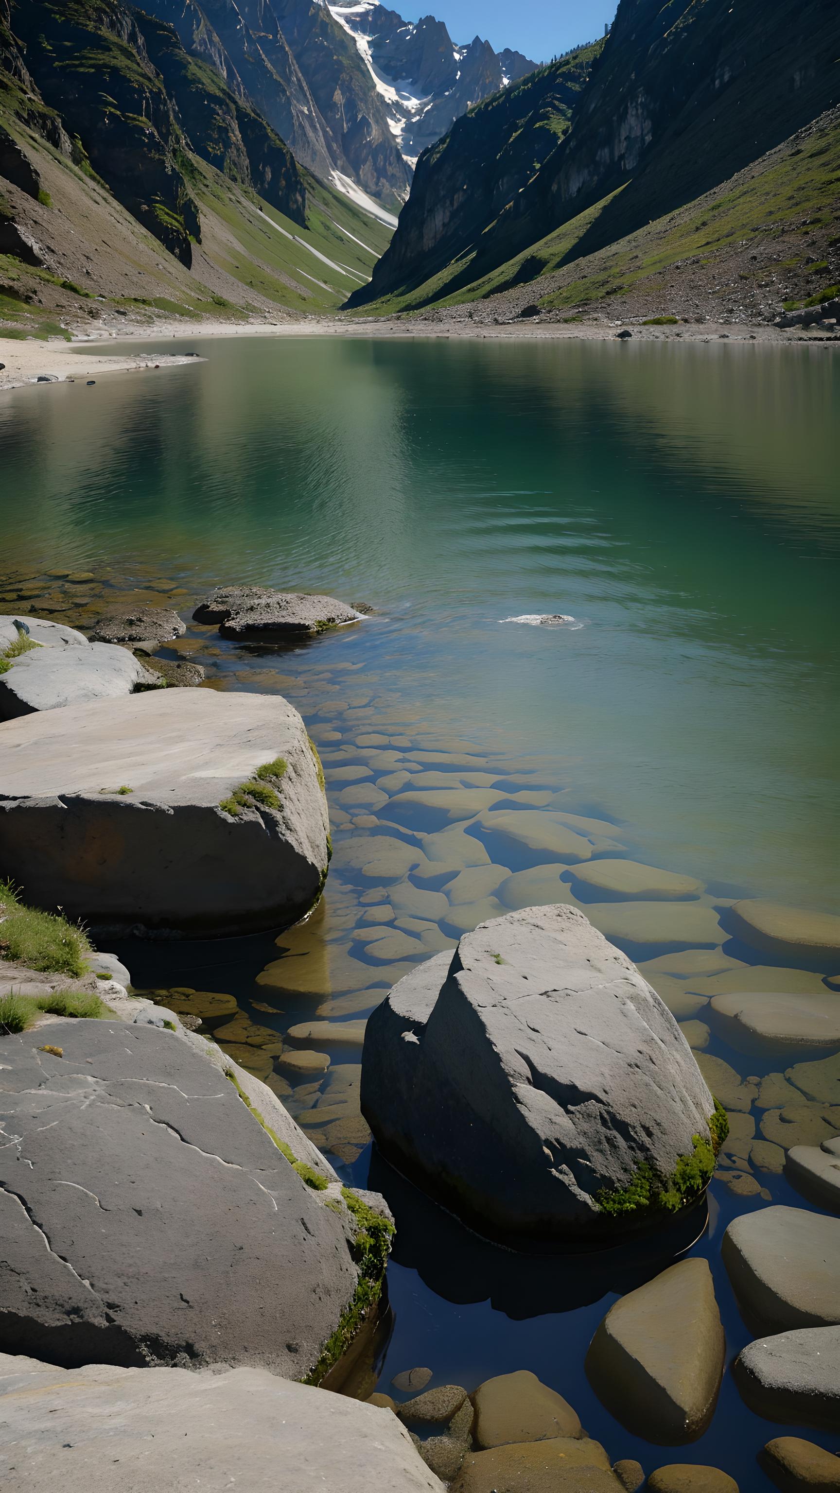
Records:
{"label": "left mountainside with dark cliffs above green grassy slope", "polygon": [[0,0],[3,336],[330,311],[389,233],[160,19]]}

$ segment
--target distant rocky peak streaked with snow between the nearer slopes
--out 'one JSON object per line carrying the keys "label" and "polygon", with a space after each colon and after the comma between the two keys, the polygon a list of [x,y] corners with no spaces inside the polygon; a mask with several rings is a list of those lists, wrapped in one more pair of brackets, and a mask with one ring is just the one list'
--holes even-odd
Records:
{"label": "distant rocky peak streaked with snow between the nearer slopes", "polygon": [[145,9],[259,109],[297,161],[392,208],[426,145],[534,67],[478,37],[454,46],[441,21],[414,25],[372,0],[145,0]]}

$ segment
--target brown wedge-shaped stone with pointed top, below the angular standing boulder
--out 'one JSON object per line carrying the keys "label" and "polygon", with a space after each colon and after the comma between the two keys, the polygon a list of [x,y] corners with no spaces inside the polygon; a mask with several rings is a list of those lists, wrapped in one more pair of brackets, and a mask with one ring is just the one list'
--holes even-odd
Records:
{"label": "brown wedge-shaped stone with pointed top, below the angular standing boulder", "polygon": [[725,1336],[705,1260],[680,1260],[628,1291],[601,1321],[589,1380],[628,1429],[661,1445],[702,1435],[723,1375]]}

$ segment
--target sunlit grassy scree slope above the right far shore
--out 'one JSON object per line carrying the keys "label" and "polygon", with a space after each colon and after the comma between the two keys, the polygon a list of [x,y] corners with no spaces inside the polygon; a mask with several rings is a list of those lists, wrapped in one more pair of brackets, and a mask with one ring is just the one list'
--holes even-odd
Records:
{"label": "sunlit grassy scree slope above the right far shore", "polygon": [[369,309],[487,322],[537,308],[555,320],[725,322],[828,300],[840,293],[840,107],[695,202],[578,258],[614,202],[608,194],[489,275],[471,278],[471,251]]}

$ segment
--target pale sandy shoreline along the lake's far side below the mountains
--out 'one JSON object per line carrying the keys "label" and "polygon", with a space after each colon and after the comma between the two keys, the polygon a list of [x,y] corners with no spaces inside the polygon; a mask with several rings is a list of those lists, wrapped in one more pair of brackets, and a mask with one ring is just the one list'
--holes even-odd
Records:
{"label": "pale sandy shoreline along the lake's far side below the mountains", "polygon": [[[36,384],[39,378],[49,381],[84,382],[105,373],[127,373],[149,369],[181,367],[193,363],[193,357],[179,354],[111,354],[109,342],[161,342],[200,340],[203,337],[466,337],[472,340],[614,340],[626,322],[556,322],[517,321],[498,325],[481,325],[465,321],[386,321],[383,318],[338,318],[312,317],[306,321],[247,322],[235,324],[205,321],[191,325],[184,321],[161,321],[154,327],[106,325],[96,336],[90,333],[72,342],[33,339],[18,340],[0,336],[0,390],[21,388]],[[679,327],[631,325],[637,342],[753,342],[785,346],[813,342],[821,346],[840,346],[840,337],[807,333],[798,327],[782,330],[765,324],[747,325],[732,322],[682,324]],[[87,351],[90,349],[90,351]],[[46,384],[43,385],[48,387]]]}

